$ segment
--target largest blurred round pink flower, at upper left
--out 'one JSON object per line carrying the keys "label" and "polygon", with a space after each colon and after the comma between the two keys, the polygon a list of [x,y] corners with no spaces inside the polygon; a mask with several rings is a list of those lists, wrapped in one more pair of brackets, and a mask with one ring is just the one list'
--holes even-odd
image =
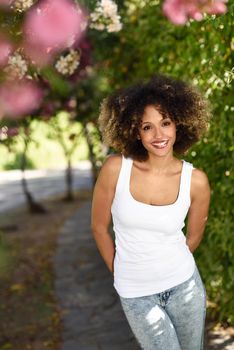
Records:
{"label": "largest blurred round pink flower, at upper left", "polygon": [[[27,13],[24,23],[26,51],[39,64],[57,51],[72,46],[83,34],[84,14],[71,0],[42,0]],[[36,52],[36,55],[33,53]]]}

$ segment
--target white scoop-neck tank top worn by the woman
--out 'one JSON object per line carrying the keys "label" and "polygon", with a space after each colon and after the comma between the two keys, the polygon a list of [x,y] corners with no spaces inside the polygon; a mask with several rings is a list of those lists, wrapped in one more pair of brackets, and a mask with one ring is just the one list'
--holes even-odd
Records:
{"label": "white scoop-neck tank top worn by the woman", "polygon": [[182,231],[190,206],[193,165],[183,160],[177,200],[139,202],[130,193],[133,160],[122,165],[111,206],[115,233],[114,288],[124,298],[160,293],[190,278],[195,260]]}

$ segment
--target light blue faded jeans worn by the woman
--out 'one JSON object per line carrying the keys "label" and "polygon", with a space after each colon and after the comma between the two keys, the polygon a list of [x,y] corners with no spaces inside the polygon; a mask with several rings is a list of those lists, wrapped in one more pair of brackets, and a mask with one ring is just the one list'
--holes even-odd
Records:
{"label": "light blue faded jeans worn by the woman", "polygon": [[185,282],[161,293],[120,302],[144,350],[203,350],[206,290],[199,270]]}

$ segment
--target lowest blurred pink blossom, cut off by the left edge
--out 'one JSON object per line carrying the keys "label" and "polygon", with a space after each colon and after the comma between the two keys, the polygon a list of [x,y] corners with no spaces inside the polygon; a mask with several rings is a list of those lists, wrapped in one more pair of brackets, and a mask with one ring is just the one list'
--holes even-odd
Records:
{"label": "lowest blurred pink blossom, cut off by the left edge", "polygon": [[42,91],[31,81],[7,81],[0,86],[0,115],[21,118],[37,109],[42,101]]}

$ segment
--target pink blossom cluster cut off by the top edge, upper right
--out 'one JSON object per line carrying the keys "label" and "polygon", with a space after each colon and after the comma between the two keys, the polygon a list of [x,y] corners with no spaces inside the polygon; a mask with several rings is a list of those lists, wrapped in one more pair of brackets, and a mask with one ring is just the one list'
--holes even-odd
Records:
{"label": "pink blossom cluster cut off by the top edge, upper right", "polygon": [[163,12],[177,25],[185,24],[189,18],[201,21],[204,13],[224,14],[227,0],[165,0]]}

